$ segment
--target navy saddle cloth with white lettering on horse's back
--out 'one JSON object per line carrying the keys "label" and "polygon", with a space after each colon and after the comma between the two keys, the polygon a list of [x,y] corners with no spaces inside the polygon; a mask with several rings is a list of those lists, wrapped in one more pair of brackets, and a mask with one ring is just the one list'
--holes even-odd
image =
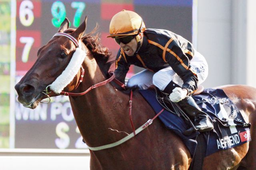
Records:
{"label": "navy saddle cloth with white lettering on horse's back", "polygon": [[[154,89],[139,91],[156,113],[162,110],[163,107],[156,100]],[[202,111],[209,115],[214,124],[212,131],[201,133],[206,142],[206,156],[250,141],[250,124],[244,121],[238,108],[223,90],[205,89],[199,95],[192,97]],[[189,136],[183,135],[183,132],[190,128],[190,125],[184,121],[184,118],[169,111],[164,110],[158,117],[168,129],[180,136],[190,154],[194,155],[197,145],[196,137],[199,132]]]}

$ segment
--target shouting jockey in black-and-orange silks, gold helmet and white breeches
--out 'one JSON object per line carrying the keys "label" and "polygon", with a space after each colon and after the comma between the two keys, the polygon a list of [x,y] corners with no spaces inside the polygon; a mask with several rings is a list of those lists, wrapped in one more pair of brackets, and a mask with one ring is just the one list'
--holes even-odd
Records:
{"label": "shouting jockey in black-and-orange silks, gold helmet and white breeches", "polygon": [[131,64],[146,68],[132,76],[127,86],[147,89],[154,84],[194,119],[198,131],[213,129],[208,115],[191,97],[208,76],[208,64],[192,43],[168,30],[146,29],[142,18],[128,10],[113,16],[109,32],[107,37],[120,45],[114,72],[118,80],[124,83]]}

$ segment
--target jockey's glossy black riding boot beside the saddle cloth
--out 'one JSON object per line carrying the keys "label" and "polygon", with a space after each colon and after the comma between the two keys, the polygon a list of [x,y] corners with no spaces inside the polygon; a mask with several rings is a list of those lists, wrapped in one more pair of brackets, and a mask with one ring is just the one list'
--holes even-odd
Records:
{"label": "jockey's glossy black riding boot beside the saddle cloth", "polygon": [[[171,94],[172,90],[176,87],[180,86],[171,81],[164,89],[164,92]],[[194,119],[194,125],[198,131],[205,132],[213,129],[212,122],[210,121],[208,115],[197,106],[196,102],[191,96],[186,97],[177,104],[184,110],[190,119]]]}

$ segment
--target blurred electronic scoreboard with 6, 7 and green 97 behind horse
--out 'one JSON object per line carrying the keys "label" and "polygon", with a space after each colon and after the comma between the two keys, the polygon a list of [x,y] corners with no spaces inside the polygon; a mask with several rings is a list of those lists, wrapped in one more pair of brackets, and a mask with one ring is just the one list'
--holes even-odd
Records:
{"label": "blurred electronic scoreboard with 6, 7 and green 97 behind horse", "polygon": [[[118,45],[108,35],[112,16],[121,10],[137,12],[146,28],[168,29],[192,41],[193,0],[16,0],[15,82],[31,68],[37,50],[58,31],[65,18],[70,27],[77,28],[88,16],[86,33],[98,23],[101,43],[116,55]],[[12,11],[13,12],[13,11]],[[131,67],[128,77],[142,70]],[[85,149],[86,144],[76,126],[70,102],[57,96],[48,104],[29,109],[13,101],[14,148]],[[90,114],[86,113],[83,114]]]}

